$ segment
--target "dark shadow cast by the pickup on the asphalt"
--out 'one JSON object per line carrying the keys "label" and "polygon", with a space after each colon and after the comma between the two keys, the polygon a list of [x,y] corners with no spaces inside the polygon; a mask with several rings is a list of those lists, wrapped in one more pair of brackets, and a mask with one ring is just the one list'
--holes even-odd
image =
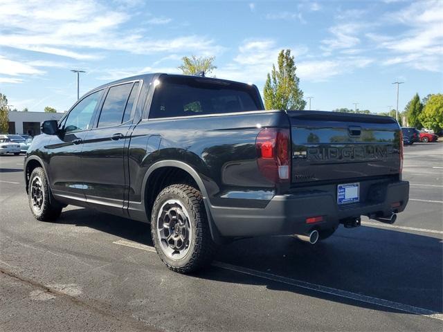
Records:
{"label": "dark shadow cast by the pickup on the asphalt", "polygon": [[[59,222],[87,226],[128,241],[153,246],[150,225],[146,223],[87,209],[63,212]],[[292,237],[234,241],[221,246],[215,260],[441,313],[443,250],[439,237],[440,234],[412,234],[365,226],[354,229],[341,227],[332,237],[315,246],[301,243]],[[264,285],[273,291],[293,292],[352,306],[404,313],[394,308],[327,295],[217,266],[189,277],[226,284]],[[173,280],[172,275],[170,282]]]}

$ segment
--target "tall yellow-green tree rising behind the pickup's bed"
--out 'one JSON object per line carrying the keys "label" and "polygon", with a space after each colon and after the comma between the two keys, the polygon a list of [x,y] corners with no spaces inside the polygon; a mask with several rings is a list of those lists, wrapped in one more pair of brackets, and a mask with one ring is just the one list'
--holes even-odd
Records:
{"label": "tall yellow-green tree rising behind the pickup's bed", "polygon": [[266,109],[305,109],[303,91],[298,86],[296,64],[291,50],[281,50],[278,54],[277,68],[272,71],[264,84],[264,107]]}

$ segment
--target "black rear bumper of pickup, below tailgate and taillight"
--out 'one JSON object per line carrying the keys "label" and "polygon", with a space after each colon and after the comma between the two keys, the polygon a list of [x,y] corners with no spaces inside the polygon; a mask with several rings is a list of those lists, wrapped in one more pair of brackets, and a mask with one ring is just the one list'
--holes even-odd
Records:
{"label": "black rear bumper of pickup, below tailgate and taillight", "polygon": [[[266,208],[232,208],[210,206],[213,221],[224,237],[256,237],[275,234],[303,234],[311,230],[336,227],[346,219],[388,216],[406,208],[409,183],[397,181],[373,188],[371,200],[338,205],[336,195],[321,190],[274,196]],[[323,216],[323,221],[306,223],[306,219]]]}

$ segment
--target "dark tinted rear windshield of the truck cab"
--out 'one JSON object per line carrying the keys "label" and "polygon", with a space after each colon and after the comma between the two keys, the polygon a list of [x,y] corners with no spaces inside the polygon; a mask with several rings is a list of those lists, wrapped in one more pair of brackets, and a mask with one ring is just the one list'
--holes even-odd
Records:
{"label": "dark tinted rear windshield of the truck cab", "polygon": [[156,86],[150,118],[199,116],[261,110],[254,86],[197,77],[163,77]]}

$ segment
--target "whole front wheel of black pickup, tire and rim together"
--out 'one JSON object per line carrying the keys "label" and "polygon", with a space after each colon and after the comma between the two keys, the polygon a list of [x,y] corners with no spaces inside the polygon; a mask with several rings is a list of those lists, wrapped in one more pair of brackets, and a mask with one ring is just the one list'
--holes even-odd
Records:
{"label": "whole front wheel of black pickup, tire and rim together", "polygon": [[62,213],[62,205],[53,198],[42,167],[36,167],[30,174],[28,200],[30,210],[37,220],[52,221]]}

